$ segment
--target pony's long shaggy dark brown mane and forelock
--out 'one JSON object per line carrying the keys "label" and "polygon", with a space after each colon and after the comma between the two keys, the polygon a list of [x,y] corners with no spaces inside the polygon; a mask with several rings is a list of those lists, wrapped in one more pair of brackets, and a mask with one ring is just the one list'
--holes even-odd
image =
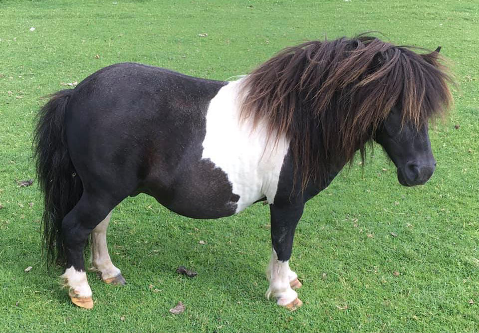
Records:
{"label": "pony's long shaggy dark brown mane and forelock", "polygon": [[374,138],[394,106],[419,130],[451,102],[439,52],[418,54],[375,37],[310,41],[286,48],[243,80],[241,118],[290,140],[301,189],[327,177]]}

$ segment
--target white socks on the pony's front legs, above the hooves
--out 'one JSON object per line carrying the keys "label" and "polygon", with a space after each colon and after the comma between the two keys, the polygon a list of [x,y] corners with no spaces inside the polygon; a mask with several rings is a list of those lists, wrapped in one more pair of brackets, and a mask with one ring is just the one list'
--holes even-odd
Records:
{"label": "white socks on the pony's front legs, above the hooves", "polygon": [[286,306],[298,297],[298,294],[289,285],[289,281],[296,279],[297,275],[289,269],[288,261],[278,260],[274,249],[266,270],[266,277],[269,280],[269,288],[266,291],[267,299],[271,296],[275,297],[278,305]]}

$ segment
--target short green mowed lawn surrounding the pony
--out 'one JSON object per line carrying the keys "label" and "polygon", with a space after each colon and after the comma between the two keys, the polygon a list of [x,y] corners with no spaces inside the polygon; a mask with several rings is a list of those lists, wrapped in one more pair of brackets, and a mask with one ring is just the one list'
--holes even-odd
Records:
{"label": "short green mowed lawn surrounding the pony", "polygon": [[[290,261],[302,308],[263,296],[266,205],[193,220],[146,195],[120,204],[109,228],[128,284],[89,273],[94,309],[70,303],[62,270],[41,257],[37,183],[17,184],[35,178],[42,96],[124,61],[227,80],[283,47],[369,30],[441,45],[455,107],[431,127],[438,166],[426,185],[402,187],[376,146],[307,203]],[[477,0],[0,0],[0,332],[479,332],[478,41]],[[179,276],[181,265],[198,275]]]}

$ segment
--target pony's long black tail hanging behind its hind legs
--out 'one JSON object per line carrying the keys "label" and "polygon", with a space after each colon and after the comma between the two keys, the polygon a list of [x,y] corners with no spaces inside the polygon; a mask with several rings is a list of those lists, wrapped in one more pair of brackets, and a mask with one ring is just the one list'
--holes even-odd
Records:
{"label": "pony's long black tail hanging behind its hind legs", "polygon": [[42,216],[43,247],[47,266],[66,261],[61,221],[80,199],[81,180],[75,174],[65,138],[65,110],[73,90],[50,96],[40,110],[33,137],[38,184],[44,197]]}

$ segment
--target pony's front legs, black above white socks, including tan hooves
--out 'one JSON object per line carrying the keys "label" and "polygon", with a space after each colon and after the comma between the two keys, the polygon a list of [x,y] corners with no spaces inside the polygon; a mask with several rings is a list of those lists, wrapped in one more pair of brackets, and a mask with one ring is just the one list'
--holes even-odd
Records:
{"label": "pony's front legs, black above white socks, including tan hooves", "polygon": [[293,290],[301,287],[296,273],[289,269],[294,230],[303,213],[303,205],[282,206],[270,205],[271,211],[271,260],[266,270],[269,288],[266,297],[276,298],[277,304],[290,310],[302,305],[298,294]]}

